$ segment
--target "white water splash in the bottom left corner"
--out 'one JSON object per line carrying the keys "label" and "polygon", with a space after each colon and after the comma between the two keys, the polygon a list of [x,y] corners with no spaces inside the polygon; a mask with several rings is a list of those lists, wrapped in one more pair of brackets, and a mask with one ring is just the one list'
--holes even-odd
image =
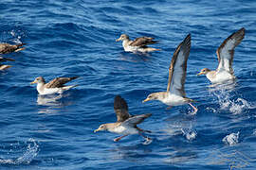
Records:
{"label": "white water splash in the bottom left corner", "polygon": [[38,155],[39,145],[32,138],[28,139],[27,143],[27,150],[22,156],[17,159],[0,158],[0,164],[29,164]]}

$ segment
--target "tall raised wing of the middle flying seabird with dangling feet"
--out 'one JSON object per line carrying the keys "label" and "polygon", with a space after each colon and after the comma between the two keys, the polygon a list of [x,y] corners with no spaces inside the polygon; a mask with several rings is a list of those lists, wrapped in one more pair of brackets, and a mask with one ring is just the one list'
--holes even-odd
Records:
{"label": "tall raised wing of the middle flying seabird with dangling feet", "polygon": [[187,72],[187,60],[191,50],[191,34],[181,42],[174,52],[169,67],[167,92],[185,97],[184,84]]}

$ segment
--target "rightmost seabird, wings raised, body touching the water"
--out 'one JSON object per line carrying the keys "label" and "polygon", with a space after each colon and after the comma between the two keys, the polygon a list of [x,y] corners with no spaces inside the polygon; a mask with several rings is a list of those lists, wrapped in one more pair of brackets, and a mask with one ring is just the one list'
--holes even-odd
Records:
{"label": "rightmost seabird, wings raised, body touching the water", "polygon": [[217,49],[217,57],[219,61],[218,68],[211,71],[208,68],[201,70],[199,75],[206,75],[212,83],[223,83],[225,81],[233,80],[235,78],[232,69],[232,62],[234,57],[234,48],[242,42],[245,37],[245,28],[242,27],[237,32],[231,34]]}

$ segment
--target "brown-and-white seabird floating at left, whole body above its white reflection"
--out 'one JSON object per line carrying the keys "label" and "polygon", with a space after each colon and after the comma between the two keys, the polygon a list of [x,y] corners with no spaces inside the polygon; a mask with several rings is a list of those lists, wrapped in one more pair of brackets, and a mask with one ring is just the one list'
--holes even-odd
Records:
{"label": "brown-and-white seabird floating at left, whole body above its white reflection", "polygon": [[37,92],[40,94],[64,93],[64,91],[67,91],[70,88],[77,86],[77,85],[64,86],[65,83],[76,78],[78,78],[78,76],[56,77],[50,82],[46,83],[46,80],[43,76],[38,76],[30,84],[37,83],[36,89],[37,89]]}

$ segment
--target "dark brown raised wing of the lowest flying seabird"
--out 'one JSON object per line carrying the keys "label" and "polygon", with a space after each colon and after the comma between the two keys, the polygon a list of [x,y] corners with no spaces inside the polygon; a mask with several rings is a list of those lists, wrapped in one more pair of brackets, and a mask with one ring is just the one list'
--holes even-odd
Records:
{"label": "dark brown raised wing of the lowest flying seabird", "polygon": [[117,122],[123,122],[131,117],[128,112],[128,105],[120,95],[115,97],[114,110],[117,114]]}

